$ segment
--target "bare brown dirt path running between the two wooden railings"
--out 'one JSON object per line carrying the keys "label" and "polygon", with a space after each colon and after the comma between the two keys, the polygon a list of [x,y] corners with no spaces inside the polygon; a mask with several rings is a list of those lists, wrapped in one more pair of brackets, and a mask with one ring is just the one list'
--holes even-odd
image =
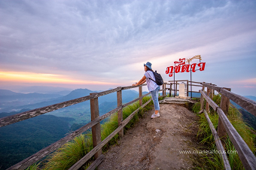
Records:
{"label": "bare brown dirt path running between the two wooden railings", "polygon": [[197,116],[181,105],[160,105],[160,117],[152,119],[154,109],[145,113],[135,127],[112,146],[99,170],[108,169],[191,169],[196,154]]}

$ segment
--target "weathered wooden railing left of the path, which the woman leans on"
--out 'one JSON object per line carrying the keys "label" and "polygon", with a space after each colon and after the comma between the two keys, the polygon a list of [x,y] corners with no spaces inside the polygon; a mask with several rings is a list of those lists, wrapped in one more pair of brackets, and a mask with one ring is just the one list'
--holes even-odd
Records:
{"label": "weathered wooden railing left of the path, which the woman leans on", "polygon": [[[24,159],[21,162],[18,162],[16,165],[11,166],[8,169],[24,169],[29,167],[29,165],[34,164],[35,162],[38,162],[40,159],[44,158],[45,156],[52,153],[54,150],[58,149],[59,147],[62,147],[63,144],[66,144],[69,141],[72,141],[76,136],[81,135],[81,133],[87,131],[88,129],[92,128],[92,135],[93,135],[93,150],[90,150],[87,155],[85,155],[81,160],[79,160],[75,165],[73,165],[70,169],[78,169],[81,167],[81,165],[84,165],[85,162],[87,162],[88,159],[90,159],[92,156],[96,157],[96,161],[93,162],[92,165],[90,165],[90,168],[93,169],[99,163],[102,161],[102,147],[108,143],[108,141],[111,140],[111,138],[114,137],[117,133],[120,137],[123,137],[123,127],[126,126],[127,123],[132,120],[133,116],[139,111],[139,109],[144,108],[145,105],[148,105],[149,102],[151,102],[152,99],[148,100],[144,105],[142,105],[142,99],[145,96],[148,96],[150,93],[147,93],[142,96],[142,87],[146,84],[142,84],[139,87],[139,98],[134,99],[131,102],[128,102],[123,105],[122,103],[122,90],[129,90],[136,87],[117,87],[113,90],[107,90],[100,93],[91,93],[90,96],[84,96],[78,99],[73,99],[67,102],[61,102],[55,105],[49,105],[43,108],[37,108],[31,111],[25,111],[20,114],[14,114],[9,117],[3,117],[0,119],[0,127],[2,126],[8,126],[13,123],[20,122],[22,120],[27,120],[32,117],[37,117],[41,114],[46,114],[50,111],[56,111],[60,108],[65,108],[71,105],[75,105],[81,102],[85,102],[87,100],[90,100],[90,112],[91,112],[91,122],[87,123],[86,125],[82,126],[80,129],[75,130],[75,132],[72,132],[71,134],[67,135],[64,138],[61,138],[59,141],[56,141],[53,144],[50,144],[50,146],[45,147],[42,150],[39,150],[37,153],[33,154],[32,156],[29,156],[28,158]],[[160,90],[163,92],[163,95],[160,97],[166,96],[166,89],[165,89],[165,83],[163,84],[163,89]],[[117,108],[114,108],[112,111],[109,111],[108,113],[102,115],[99,117],[99,102],[98,98],[99,96],[105,96],[109,93],[115,93],[117,92]],[[128,105],[133,104],[134,102],[137,102],[139,100],[140,108],[138,108],[136,111],[134,111],[132,114],[130,114],[129,117],[127,117],[125,120],[123,120],[123,108],[125,108]],[[100,132],[100,121],[104,120],[106,117],[109,117],[111,114],[114,114],[117,112],[118,115],[118,127],[114,130],[114,132],[111,133],[111,135],[108,135],[107,138],[105,138],[103,141],[101,141],[101,132]]]}

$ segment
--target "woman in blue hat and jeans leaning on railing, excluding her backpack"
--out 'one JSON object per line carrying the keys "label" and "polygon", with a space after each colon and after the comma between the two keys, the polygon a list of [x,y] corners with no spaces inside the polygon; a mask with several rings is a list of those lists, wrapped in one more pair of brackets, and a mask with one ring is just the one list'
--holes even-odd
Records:
{"label": "woman in blue hat and jeans leaning on railing, excluding her backpack", "polygon": [[157,83],[154,82],[155,78],[154,78],[154,73],[151,68],[151,65],[152,65],[151,62],[147,62],[146,64],[144,64],[145,74],[142,77],[142,79],[139,80],[138,83],[134,83],[133,86],[139,86],[142,83],[147,82],[148,91],[151,92],[151,96],[154,102],[154,114],[151,115],[151,118],[154,119],[156,117],[160,117],[160,114],[159,114],[160,106],[158,102],[158,92],[160,90],[160,87],[157,85]]}

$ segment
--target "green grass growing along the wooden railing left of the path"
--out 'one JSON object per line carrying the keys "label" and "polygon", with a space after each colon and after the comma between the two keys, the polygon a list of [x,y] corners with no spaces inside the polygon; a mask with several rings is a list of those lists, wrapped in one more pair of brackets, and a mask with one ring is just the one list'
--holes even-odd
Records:
{"label": "green grass growing along the wooden railing left of the path", "polygon": [[[145,102],[148,102],[149,99],[151,99],[150,96],[144,97],[142,103],[144,104]],[[143,116],[145,111],[150,110],[151,105],[153,105],[153,102],[150,102],[147,106],[145,106],[145,108],[140,109],[139,112],[135,114],[133,119],[130,120],[130,123],[128,123],[124,127],[124,132],[126,132],[127,129],[132,127],[139,120],[139,117]],[[135,102],[133,105],[129,105],[126,108],[123,108],[123,120],[126,119],[126,117],[128,117],[130,114],[132,114],[133,111],[136,111],[137,108],[139,108],[139,101]],[[101,125],[102,140],[107,138],[108,135],[111,134],[111,132],[117,129],[117,119],[117,113],[112,114],[110,119]],[[105,146],[102,148],[103,152],[108,150],[109,146],[117,144],[117,139],[118,135],[115,135],[114,138],[112,138],[108,142],[108,144],[105,144]],[[79,159],[81,159],[83,156],[89,153],[92,149],[93,140],[91,132],[79,135],[78,137],[74,138],[73,141],[64,144],[62,147],[60,147],[58,150],[56,150],[54,153],[48,156],[47,160],[43,165],[43,169],[69,169],[72,165],[75,164],[75,162],[78,162]],[[87,165],[84,165],[84,168],[88,167],[89,165],[90,162],[87,163]]]}

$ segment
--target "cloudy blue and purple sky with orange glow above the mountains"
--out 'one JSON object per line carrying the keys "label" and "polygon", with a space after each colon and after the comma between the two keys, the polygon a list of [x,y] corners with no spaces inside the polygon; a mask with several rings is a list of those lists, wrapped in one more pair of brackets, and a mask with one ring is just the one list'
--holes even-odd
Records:
{"label": "cloudy blue and purple sky with orange glow above the mountains", "polygon": [[201,55],[192,80],[256,96],[255,0],[0,0],[0,20],[0,89],[126,87],[146,62],[168,82]]}

